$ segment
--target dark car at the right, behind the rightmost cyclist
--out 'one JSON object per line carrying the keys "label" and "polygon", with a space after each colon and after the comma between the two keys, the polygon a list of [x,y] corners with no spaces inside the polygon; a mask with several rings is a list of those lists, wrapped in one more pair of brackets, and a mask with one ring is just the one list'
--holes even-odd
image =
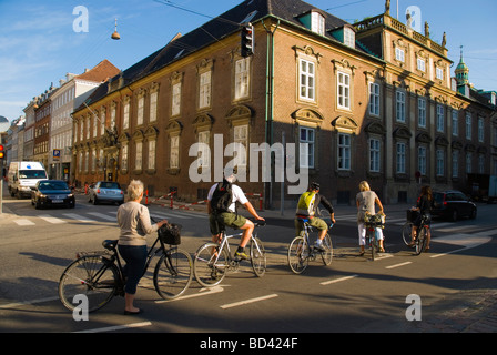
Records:
{"label": "dark car at the right, behind the rightmost cyclist", "polygon": [[477,207],[464,193],[457,190],[434,192],[432,215],[457,221],[459,217],[476,219]]}

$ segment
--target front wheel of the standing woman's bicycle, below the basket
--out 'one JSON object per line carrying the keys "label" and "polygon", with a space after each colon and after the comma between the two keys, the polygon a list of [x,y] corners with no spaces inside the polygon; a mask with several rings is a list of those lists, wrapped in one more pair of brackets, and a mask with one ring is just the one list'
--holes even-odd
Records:
{"label": "front wheel of the standing woman's bicycle, below the basket", "polygon": [[182,295],[193,278],[192,257],[173,247],[161,256],[153,273],[153,284],[159,295],[172,300]]}

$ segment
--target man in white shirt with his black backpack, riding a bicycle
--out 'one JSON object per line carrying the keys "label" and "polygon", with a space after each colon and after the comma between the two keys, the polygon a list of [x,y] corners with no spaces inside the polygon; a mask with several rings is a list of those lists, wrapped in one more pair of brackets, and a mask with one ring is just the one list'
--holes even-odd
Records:
{"label": "man in white shirt with his black backpack, riding a bicycle", "polygon": [[236,202],[240,202],[258,221],[265,221],[255,211],[246,199],[243,190],[235,185],[236,175],[233,171],[225,171],[223,182],[212,185],[207,194],[209,224],[214,243],[221,242],[221,226],[231,226],[243,231],[240,245],[235,252],[237,258],[248,258],[245,246],[248,243],[254,223],[236,212]]}

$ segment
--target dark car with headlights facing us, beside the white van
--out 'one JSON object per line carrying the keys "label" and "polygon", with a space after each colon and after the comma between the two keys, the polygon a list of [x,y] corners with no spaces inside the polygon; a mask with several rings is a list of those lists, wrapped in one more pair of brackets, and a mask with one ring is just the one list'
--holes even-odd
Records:
{"label": "dark car with headlights facing us, beside the white van", "polygon": [[36,209],[68,206],[74,209],[75,199],[68,184],[61,180],[40,180],[31,191],[31,204]]}

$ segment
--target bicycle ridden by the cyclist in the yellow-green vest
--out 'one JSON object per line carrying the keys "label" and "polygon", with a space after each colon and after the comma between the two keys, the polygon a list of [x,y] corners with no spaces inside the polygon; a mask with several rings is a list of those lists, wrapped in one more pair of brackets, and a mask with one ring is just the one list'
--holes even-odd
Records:
{"label": "bicycle ridden by the cyclist in the yellow-green vest", "polygon": [[[295,274],[302,274],[307,268],[310,261],[315,261],[317,255],[321,255],[323,263],[327,266],[333,261],[333,244],[329,233],[326,233],[322,247],[316,248],[311,245],[310,234],[313,232],[313,227],[310,224],[308,219],[300,219],[300,223],[303,224],[301,235],[295,236],[288,245],[288,266]],[[333,223],[329,224],[328,231],[333,227]]]}

